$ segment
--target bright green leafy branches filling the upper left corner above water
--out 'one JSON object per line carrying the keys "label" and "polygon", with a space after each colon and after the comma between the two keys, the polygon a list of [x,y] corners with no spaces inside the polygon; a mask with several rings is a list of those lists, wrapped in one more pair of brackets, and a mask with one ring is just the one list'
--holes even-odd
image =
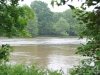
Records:
{"label": "bright green leafy branches filling the upper left corner above water", "polygon": [[29,10],[26,6],[18,7],[18,1],[10,0],[9,4],[8,0],[0,1],[0,34],[7,37],[25,35],[25,27],[30,18],[25,11]]}

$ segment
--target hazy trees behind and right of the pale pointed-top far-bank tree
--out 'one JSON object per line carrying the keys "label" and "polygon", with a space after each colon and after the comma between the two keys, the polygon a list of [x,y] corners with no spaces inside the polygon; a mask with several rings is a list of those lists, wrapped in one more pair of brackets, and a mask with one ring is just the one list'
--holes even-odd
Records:
{"label": "hazy trees behind and right of the pale pointed-top far-bank tree", "polygon": [[79,27],[82,27],[82,25],[79,25],[78,21],[74,19],[72,15],[73,13],[71,9],[68,9],[64,12],[53,12],[52,22],[56,23],[61,17],[64,18],[70,26],[69,30],[67,31],[69,36],[76,36],[79,33]]}

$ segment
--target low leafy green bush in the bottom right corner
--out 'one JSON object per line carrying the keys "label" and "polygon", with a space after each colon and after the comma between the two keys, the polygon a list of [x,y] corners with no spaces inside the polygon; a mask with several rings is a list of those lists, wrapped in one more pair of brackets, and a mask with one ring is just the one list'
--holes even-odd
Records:
{"label": "low leafy green bush in the bottom right corner", "polygon": [[100,63],[91,65],[93,62],[95,63],[92,59],[82,60],[80,65],[70,69],[69,73],[71,75],[100,75]]}

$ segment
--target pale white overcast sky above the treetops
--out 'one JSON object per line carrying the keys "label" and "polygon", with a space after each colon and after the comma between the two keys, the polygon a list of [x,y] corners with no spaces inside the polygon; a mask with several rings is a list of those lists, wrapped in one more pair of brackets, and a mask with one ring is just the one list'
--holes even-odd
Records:
{"label": "pale white overcast sky above the treetops", "polygon": [[[24,0],[23,2],[20,2],[20,5],[23,5],[23,4],[27,4],[30,6],[31,2],[34,1],[34,0]],[[40,1],[44,1],[48,4],[48,7],[51,9],[51,11],[53,12],[63,12],[67,9],[69,9],[69,7],[67,6],[67,4],[72,4],[76,7],[79,7],[81,5],[81,2],[78,2],[76,0],[74,0],[73,2],[69,2],[67,3],[66,5],[63,5],[63,6],[57,6],[55,5],[54,7],[51,6],[51,0],[40,0]]]}

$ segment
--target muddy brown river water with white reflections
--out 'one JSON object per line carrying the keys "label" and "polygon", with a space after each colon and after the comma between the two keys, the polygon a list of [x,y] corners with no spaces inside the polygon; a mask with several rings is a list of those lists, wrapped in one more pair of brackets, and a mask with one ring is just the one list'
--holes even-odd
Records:
{"label": "muddy brown river water with white reflections", "polygon": [[83,57],[75,55],[80,43],[86,39],[78,38],[35,38],[35,39],[2,39],[1,44],[14,46],[11,53],[11,63],[37,63],[39,67],[53,70],[62,69],[64,72],[72,68]]}

